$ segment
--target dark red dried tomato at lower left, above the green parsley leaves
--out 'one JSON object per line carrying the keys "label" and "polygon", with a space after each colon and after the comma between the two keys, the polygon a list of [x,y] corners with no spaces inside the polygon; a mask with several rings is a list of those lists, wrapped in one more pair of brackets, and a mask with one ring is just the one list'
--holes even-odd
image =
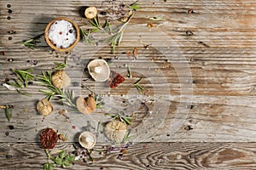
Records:
{"label": "dark red dried tomato at lower left, above the green parsley leaves", "polygon": [[44,129],[40,135],[40,141],[44,149],[53,149],[58,141],[58,134],[52,128]]}

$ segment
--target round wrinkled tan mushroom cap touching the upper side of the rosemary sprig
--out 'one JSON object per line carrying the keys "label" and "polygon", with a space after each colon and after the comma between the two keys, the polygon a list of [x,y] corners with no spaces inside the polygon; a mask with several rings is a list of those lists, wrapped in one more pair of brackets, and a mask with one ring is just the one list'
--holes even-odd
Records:
{"label": "round wrinkled tan mushroom cap touching the upper side of the rosemary sprig", "polygon": [[55,71],[51,77],[51,82],[55,88],[67,88],[70,85],[70,78],[67,76],[65,71]]}

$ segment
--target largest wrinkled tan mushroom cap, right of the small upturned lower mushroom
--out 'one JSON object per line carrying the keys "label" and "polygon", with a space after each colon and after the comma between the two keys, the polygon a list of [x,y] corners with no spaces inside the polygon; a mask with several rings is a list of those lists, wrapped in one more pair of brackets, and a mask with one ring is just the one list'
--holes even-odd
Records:
{"label": "largest wrinkled tan mushroom cap, right of the small upturned lower mushroom", "polygon": [[124,122],[111,121],[105,127],[105,135],[116,143],[120,143],[125,138],[126,133],[127,126]]}

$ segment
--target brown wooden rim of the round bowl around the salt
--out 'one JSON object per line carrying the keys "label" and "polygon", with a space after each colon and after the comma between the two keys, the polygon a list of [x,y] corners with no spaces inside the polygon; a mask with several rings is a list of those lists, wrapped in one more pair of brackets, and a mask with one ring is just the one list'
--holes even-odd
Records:
{"label": "brown wooden rim of the round bowl around the salt", "polygon": [[[74,29],[76,30],[76,33],[77,33],[77,38],[76,38],[76,41],[73,42],[73,44],[71,46],[69,46],[68,48],[57,48],[52,42],[50,42],[49,40],[49,37],[48,37],[48,31],[49,31],[49,27],[55,23],[55,21],[57,20],[67,20],[68,22],[70,22]],[[70,20],[69,18],[67,17],[58,17],[58,18],[55,18],[54,20],[51,20],[49,22],[49,24],[46,26],[45,28],[45,31],[44,31],[44,38],[45,38],[45,41],[48,43],[49,47],[55,49],[56,51],[62,51],[62,52],[66,52],[66,51],[70,51],[71,49],[73,49],[78,43],[79,43],[79,38],[80,38],[80,30],[79,30],[79,26],[73,21],[73,20]]]}

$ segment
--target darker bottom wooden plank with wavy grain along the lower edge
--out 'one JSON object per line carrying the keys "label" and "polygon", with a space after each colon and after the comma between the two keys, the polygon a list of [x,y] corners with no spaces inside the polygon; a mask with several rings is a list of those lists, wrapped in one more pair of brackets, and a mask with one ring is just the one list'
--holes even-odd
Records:
{"label": "darker bottom wooden plank with wavy grain along the lower edge", "polygon": [[[96,146],[96,150],[103,148]],[[71,153],[74,149],[67,143],[57,144],[55,150]],[[95,151],[94,162],[79,160],[66,169],[253,169],[255,152],[255,143],[141,143],[131,144],[122,160],[119,151],[107,155]],[[0,144],[1,169],[42,169],[46,162],[37,143]]]}

